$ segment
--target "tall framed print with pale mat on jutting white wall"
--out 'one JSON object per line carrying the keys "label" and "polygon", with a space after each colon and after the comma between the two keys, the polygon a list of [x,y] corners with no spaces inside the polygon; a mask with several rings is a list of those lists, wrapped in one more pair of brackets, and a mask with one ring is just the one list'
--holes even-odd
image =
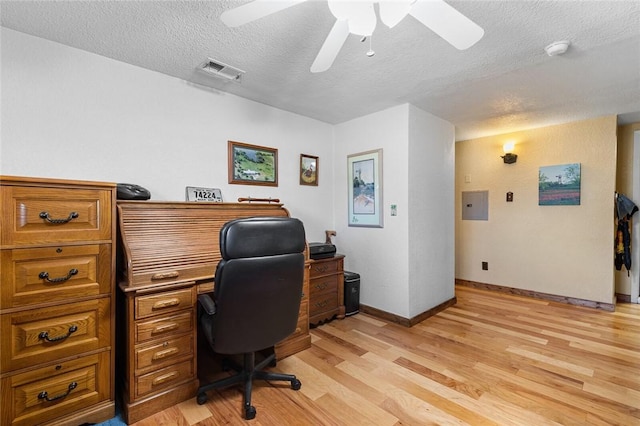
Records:
{"label": "tall framed print with pale mat on jutting white wall", "polygon": [[382,228],[382,149],[347,157],[349,226]]}

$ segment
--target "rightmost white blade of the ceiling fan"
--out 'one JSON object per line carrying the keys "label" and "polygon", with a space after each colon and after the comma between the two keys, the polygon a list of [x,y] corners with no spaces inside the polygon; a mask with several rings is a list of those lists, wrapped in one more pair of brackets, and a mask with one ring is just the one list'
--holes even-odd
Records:
{"label": "rightmost white blade of the ceiling fan", "polygon": [[478,24],[442,0],[418,0],[409,14],[459,50],[468,49],[484,35]]}

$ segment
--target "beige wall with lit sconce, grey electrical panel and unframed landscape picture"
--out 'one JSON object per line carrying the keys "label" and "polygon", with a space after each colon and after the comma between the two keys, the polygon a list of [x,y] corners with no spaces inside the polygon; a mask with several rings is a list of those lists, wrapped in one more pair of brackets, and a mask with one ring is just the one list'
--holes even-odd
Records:
{"label": "beige wall with lit sconce, grey electrical panel and unframed landscape picture", "polygon": [[[515,164],[500,158],[507,140]],[[581,164],[581,204],[539,206],[540,166],[568,163]],[[612,303],[615,179],[615,116],[457,143],[456,278]],[[475,190],[489,191],[488,221],[461,220]]]}

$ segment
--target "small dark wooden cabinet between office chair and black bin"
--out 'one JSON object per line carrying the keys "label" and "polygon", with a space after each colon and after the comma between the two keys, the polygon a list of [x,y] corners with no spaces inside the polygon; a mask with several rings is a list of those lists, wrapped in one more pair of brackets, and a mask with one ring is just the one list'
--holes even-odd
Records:
{"label": "small dark wooden cabinet between office chair and black bin", "polygon": [[344,318],[344,256],[311,261],[309,276],[309,323]]}

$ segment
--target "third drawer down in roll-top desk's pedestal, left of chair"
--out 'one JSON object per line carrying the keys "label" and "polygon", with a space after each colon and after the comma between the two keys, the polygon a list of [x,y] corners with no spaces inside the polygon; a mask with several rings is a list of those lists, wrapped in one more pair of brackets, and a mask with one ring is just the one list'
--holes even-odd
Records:
{"label": "third drawer down in roll-top desk's pedestal, left of chair", "polygon": [[184,356],[193,356],[193,333],[177,338],[163,339],[136,348],[136,374],[150,368],[159,368]]}

